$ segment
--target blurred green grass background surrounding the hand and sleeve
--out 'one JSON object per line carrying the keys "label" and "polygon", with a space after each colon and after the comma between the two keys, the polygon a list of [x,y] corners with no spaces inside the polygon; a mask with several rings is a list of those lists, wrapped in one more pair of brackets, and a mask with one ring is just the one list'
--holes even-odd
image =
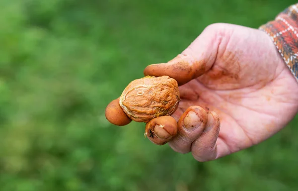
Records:
{"label": "blurred green grass background surrounding the hand and sleeve", "polygon": [[207,163],[109,124],[105,106],[209,24],[257,28],[294,0],[0,0],[1,191],[294,191],[298,118]]}

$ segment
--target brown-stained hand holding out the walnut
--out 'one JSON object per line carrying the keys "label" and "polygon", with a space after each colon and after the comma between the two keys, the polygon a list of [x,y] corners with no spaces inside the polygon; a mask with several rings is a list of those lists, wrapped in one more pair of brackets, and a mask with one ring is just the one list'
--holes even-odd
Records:
{"label": "brown-stained hand holding out the walnut", "polygon": [[173,60],[149,65],[144,74],[177,80],[178,133],[167,141],[201,162],[266,140],[298,112],[298,82],[257,29],[212,24]]}

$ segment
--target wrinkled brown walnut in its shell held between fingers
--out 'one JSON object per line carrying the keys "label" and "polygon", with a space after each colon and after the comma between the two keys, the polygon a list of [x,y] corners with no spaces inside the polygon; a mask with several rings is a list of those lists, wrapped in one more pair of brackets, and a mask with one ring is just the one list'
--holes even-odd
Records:
{"label": "wrinkled brown walnut in its shell held between fingers", "polygon": [[168,76],[147,76],[132,81],[120,96],[119,104],[134,121],[171,115],[178,108],[180,94],[178,83]]}

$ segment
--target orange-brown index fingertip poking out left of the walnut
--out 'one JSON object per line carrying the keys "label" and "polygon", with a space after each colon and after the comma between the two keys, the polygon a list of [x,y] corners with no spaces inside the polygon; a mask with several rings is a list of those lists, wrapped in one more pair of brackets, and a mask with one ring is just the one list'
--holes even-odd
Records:
{"label": "orange-brown index fingertip poking out left of the walnut", "polygon": [[128,125],[132,121],[120,107],[119,98],[114,99],[107,105],[105,116],[110,123],[118,126]]}

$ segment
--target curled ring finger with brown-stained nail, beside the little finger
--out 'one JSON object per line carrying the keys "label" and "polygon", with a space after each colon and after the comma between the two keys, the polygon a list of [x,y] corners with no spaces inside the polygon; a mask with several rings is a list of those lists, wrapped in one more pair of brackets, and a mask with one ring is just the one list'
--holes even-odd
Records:
{"label": "curled ring finger with brown-stained nail, beside the little finger", "polygon": [[190,106],[178,120],[178,132],[169,142],[169,146],[176,152],[188,153],[191,144],[196,140],[207,124],[207,112],[200,106]]}

